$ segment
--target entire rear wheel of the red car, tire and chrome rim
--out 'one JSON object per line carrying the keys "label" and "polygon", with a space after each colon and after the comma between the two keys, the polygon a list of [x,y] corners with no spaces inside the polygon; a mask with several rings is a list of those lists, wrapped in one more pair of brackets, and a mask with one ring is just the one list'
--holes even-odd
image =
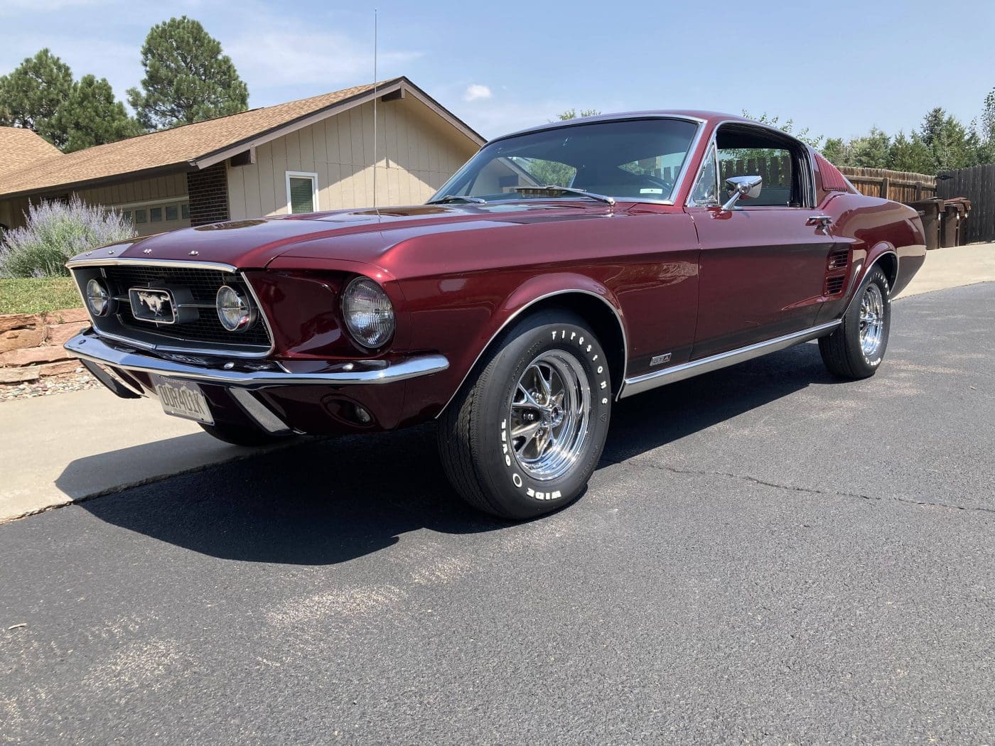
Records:
{"label": "entire rear wheel of the red car, tire and chrome rim", "polygon": [[843,323],[819,340],[819,352],[829,372],[840,378],[869,378],[878,372],[892,328],[892,297],[888,278],[874,268],[861,284]]}

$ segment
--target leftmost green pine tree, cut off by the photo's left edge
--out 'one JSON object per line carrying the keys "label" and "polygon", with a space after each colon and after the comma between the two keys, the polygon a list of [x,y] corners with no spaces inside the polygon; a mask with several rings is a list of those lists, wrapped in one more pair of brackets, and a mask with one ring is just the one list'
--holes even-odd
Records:
{"label": "leftmost green pine tree, cut off by the photo's left edge", "polygon": [[73,91],[69,66],[43,49],[0,77],[0,125],[32,129],[56,147],[67,133],[57,120],[59,107]]}

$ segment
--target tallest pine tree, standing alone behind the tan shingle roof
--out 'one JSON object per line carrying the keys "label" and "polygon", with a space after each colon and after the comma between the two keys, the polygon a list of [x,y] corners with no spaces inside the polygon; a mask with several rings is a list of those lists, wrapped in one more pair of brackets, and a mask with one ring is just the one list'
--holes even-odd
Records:
{"label": "tallest pine tree, standing alone behind the tan shingle roof", "polygon": [[141,48],[145,77],[128,103],[148,129],[245,111],[249,90],[221,43],[186,16],[156,24]]}

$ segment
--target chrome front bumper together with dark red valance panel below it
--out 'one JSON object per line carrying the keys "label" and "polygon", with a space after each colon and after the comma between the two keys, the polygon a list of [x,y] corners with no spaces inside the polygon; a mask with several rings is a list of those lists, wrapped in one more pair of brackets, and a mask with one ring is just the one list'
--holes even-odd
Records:
{"label": "chrome front bumper together with dark red valance panel below it", "polygon": [[[404,393],[403,387],[383,384],[449,367],[443,355],[343,361],[306,372],[292,372],[276,364],[262,369],[268,363],[258,360],[221,358],[194,364],[178,360],[176,355],[159,357],[123,343],[108,342],[93,329],[77,334],[65,346],[119,397],[155,396],[152,374],[192,381],[201,385],[212,409],[219,408],[222,418],[230,422],[244,422],[247,418],[273,434],[390,429],[401,419]],[[355,412],[356,405],[371,413],[373,422],[356,423],[348,415]]]}

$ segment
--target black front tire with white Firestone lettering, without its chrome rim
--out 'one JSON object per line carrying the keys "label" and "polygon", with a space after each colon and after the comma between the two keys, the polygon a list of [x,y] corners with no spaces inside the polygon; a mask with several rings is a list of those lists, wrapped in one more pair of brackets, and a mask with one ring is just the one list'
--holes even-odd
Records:
{"label": "black front tire with white Firestone lettering, without its chrome rim", "polygon": [[[518,380],[540,354],[559,350],[572,355],[591,389],[588,433],[577,464],[555,479],[541,480],[523,469],[511,450],[509,409]],[[604,349],[579,319],[538,316],[515,329],[488,366],[475,403],[475,451],[482,476],[490,483],[502,509],[516,517],[555,510],[580,496],[601,459],[611,418],[612,384]]]}

